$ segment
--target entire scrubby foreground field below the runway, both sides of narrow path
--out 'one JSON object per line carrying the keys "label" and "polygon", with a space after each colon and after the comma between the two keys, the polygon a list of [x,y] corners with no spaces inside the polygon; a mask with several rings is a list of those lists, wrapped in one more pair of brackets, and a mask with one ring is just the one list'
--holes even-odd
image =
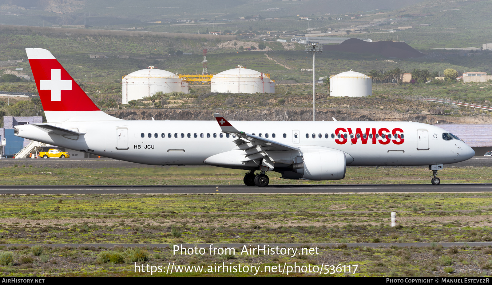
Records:
{"label": "entire scrubby foreground field below the runway, both sides of narrow path", "polygon": [[[1,195],[1,276],[147,276],[135,264],[195,266],[176,276],[252,276],[196,273],[196,266],[345,266],[323,276],[490,276],[492,249],[445,249],[439,242],[491,241],[489,193]],[[398,225],[389,226],[390,212]],[[427,248],[347,248],[351,242],[429,242]],[[51,243],[65,243],[62,248]],[[142,244],[71,247],[72,243]],[[318,254],[179,254],[147,243],[338,243]],[[286,245],[288,248],[289,246]],[[302,249],[299,249],[301,252]],[[350,265],[350,271],[347,266]],[[354,269],[357,265],[357,271]],[[265,267],[267,266],[267,267]],[[176,269],[176,267],[173,267]],[[182,268],[182,267],[181,267]],[[183,270],[183,268],[182,268]],[[185,269],[184,269],[185,270]],[[164,272],[166,270],[164,269]],[[165,273],[154,273],[166,276]],[[167,274],[170,275],[170,274]],[[273,275],[262,271],[258,275]],[[286,274],[284,273],[284,276]],[[290,274],[311,276],[303,272]]]}

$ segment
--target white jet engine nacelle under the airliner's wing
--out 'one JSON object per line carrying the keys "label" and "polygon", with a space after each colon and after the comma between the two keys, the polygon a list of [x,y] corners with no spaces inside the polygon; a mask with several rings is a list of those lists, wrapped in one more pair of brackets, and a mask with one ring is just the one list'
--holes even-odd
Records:
{"label": "white jet engine nacelle under the airliner's wing", "polygon": [[304,153],[297,160],[294,171],[306,180],[339,180],[345,178],[347,167],[345,154],[339,151],[315,151]]}

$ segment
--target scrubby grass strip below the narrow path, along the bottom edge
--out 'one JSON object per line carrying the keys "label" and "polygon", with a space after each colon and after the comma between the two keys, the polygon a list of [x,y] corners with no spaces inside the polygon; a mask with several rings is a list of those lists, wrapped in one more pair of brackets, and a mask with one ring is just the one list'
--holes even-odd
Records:
{"label": "scrubby grass strip below the narrow path, along the bottom edge", "polygon": [[[287,247],[287,245],[286,245]],[[283,248],[283,247],[280,247]],[[295,248],[301,252],[305,247]],[[306,248],[305,248],[306,249]],[[402,248],[392,246],[391,248],[369,248],[356,247],[349,248],[345,244],[339,244],[334,247],[318,247],[318,254],[303,255],[263,255],[263,254],[242,254],[242,248],[235,248],[236,254],[173,254],[170,249],[152,248],[145,246],[137,249],[125,249],[123,247],[113,247],[107,249],[104,247],[81,246],[62,248],[47,247],[49,255],[48,261],[42,261],[40,257],[25,256],[26,247],[9,247],[7,253],[12,256],[15,264],[0,267],[4,275],[13,274],[20,277],[44,277],[44,276],[151,276],[151,267],[154,267],[152,276],[287,276],[273,271],[272,268],[285,263],[291,268],[296,264],[301,268],[307,269],[328,265],[328,272],[319,273],[300,273],[289,272],[288,276],[392,276],[392,277],[410,277],[410,276],[433,276],[446,277],[453,273],[455,277],[462,276],[489,276],[490,264],[492,259],[486,252],[490,250],[487,247],[469,247],[461,246],[455,248],[453,253],[453,267],[441,265],[441,257],[444,256],[445,250],[442,247],[425,247],[425,248]],[[129,260],[123,260],[123,255],[128,251],[140,250],[149,253],[145,262],[137,261],[128,264]],[[17,257],[18,256],[18,257]],[[113,258],[114,261],[111,261]],[[327,260],[334,258],[336,261],[327,263]],[[23,263],[22,260],[32,259],[31,263]],[[106,261],[104,261],[106,260]],[[29,261],[29,260],[27,260]],[[222,265],[239,265],[250,267],[256,266],[258,272],[253,269],[252,272],[208,272],[209,268]],[[146,267],[146,265],[149,267]],[[142,265],[146,272],[142,272]],[[333,265],[333,268],[331,267]],[[337,272],[337,265],[341,270]],[[350,272],[349,272],[350,265]],[[136,267],[135,267],[136,266]],[[161,266],[160,272],[157,271]],[[173,270],[168,266],[172,266]],[[357,267],[356,267],[357,266]],[[139,268],[140,267],[140,268]],[[148,268],[148,269],[147,269]],[[190,272],[193,268],[192,272]],[[197,269],[201,272],[197,273]],[[249,269],[249,268],[248,268]],[[332,270],[333,269],[333,270]],[[354,273],[355,270],[355,273]],[[171,274],[172,271],[172,274]],[[249,270],[248,270],[249,271]]]}

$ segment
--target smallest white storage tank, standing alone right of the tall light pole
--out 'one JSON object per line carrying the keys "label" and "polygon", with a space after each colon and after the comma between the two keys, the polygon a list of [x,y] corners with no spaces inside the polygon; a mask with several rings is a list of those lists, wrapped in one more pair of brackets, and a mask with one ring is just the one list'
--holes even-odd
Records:
{"label": "smallest white storage tank, standing alone right of the tall light pole", "polygon": [[352,70],[338,73],[330,76],[330,95],[336,97],[372,95],[372,80],[369,76]]}

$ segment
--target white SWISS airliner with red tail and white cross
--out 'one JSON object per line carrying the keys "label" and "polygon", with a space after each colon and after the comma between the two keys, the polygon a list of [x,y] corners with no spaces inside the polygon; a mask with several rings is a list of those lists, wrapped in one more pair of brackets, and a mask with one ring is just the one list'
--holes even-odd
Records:
{"label": "white SWISS airliner with red tail and white cross", "polygon": [[228,122],[219,114],[217,122],[121,120],[99,110],[49,51],[26,52],[48,123],[16,126],[15,134],[72,150],[151,165],[245,169],[247,186],[267,186],[268,171],[343,179],[347,165],[429,165],[438,185],[443,164],[475,155],[446,130],[412,122]]}

